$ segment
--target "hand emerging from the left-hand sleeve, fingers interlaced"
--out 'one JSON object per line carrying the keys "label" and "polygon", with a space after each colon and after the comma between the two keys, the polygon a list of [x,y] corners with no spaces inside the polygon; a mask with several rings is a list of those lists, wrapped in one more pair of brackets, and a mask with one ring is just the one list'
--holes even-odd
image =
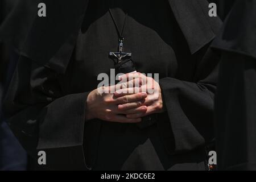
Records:
{"label": "hand emerging from the left-hand sleeve, fingers interlaced", "polygon": [[[111,89],[111,86],[105,88]],[[98,89],[89,93],[86,101],[86,121],[94,118],[102,119],[109,122],[120,123],[137,123],[141,122],[141,118],[129,119],[127,114],[146,113],[147,106],[142,105],[144,99],[147,97],[146,93],[127,94],[123,97],[115,97],[114,94],[100,93]],[[119,104],[126,104],[129,102],[137,102],[138,107],[130,110],[118,110]]]}

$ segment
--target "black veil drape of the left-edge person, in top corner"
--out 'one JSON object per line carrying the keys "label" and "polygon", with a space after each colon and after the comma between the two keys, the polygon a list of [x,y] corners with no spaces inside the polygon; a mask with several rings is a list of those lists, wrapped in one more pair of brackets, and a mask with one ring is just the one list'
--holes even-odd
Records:
{"label": "black veil drape of the left-edge person, in top corner", "polygon": [[32,26],[40,0],[2,0],[0,41],[20,51]]}

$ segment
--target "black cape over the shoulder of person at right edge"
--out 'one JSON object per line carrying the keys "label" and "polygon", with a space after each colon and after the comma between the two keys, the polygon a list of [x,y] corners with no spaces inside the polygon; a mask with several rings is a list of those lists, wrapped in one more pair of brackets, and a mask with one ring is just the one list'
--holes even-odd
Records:
{"label": "black cape over the shoulder of person at right edge", "polygon": [[237,0],[224,26],[212,43],[222,51],[236,52],[256,59],[256,1]]}

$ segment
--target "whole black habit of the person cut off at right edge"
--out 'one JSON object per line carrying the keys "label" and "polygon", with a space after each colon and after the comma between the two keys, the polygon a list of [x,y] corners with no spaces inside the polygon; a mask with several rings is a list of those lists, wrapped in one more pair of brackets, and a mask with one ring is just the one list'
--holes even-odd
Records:
{"label": "whole black habit of the person cut off at right edge", "polygon": [[221,52],[216,96],[220,170],[256,169],[256,2],[238,0],[212,47]]}

